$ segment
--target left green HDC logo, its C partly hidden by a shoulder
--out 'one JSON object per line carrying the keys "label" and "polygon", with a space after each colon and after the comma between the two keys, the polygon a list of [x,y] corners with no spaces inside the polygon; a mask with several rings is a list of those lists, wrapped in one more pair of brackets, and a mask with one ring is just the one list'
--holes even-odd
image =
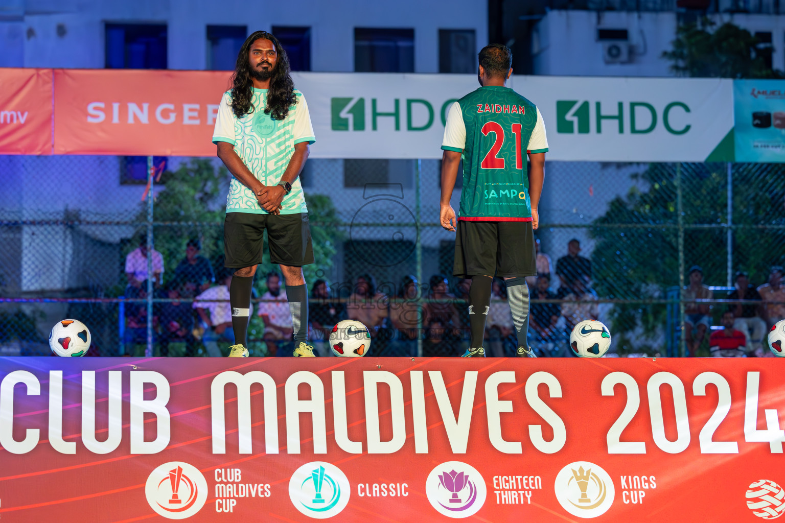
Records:
{"label": "left green HDC logo, its C partly hidden by a shoulder", "polygon": [[[334,131],[375,131],[379,125],[384,125],[385,129],[393,128],[396,131],[425,131],[433,127],[438,116],[444,126],[447,122],[447,109],[455,101],[455,98],[436,103],[422,98],[330,98],[330,128]],[[370,118],[366,118],[366,115]]]}

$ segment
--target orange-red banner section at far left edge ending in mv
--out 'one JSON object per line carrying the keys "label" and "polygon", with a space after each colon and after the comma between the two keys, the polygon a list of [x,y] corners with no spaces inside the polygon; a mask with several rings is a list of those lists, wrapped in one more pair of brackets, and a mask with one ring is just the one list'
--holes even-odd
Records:
{"label": "orange-red banner section at far left edge ending in mv", "polygon": [[52,70],[0,71],[0,154],[51,154]]}

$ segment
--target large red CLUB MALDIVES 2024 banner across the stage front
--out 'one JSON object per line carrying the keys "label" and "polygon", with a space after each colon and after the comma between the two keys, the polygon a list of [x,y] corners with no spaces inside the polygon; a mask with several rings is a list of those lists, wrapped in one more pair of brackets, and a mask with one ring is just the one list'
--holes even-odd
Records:
{"label": "large red CLUB MALDIVES 2024 banner across the stage front", "polygon": [[760,521],[785,361],[2,358],[5,521]]}

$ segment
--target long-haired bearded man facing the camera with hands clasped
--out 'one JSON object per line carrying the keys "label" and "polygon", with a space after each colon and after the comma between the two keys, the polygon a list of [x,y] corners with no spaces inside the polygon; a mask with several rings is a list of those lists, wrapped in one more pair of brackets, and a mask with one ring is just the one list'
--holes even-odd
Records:
{"label": "long-haired bearded man facing the camera with hands clasped", "polygon": [[251,287],[262,259],[265,229],[270,260],[287,284],[294,356],[312,357],[308,291],[302,266],[313,263],[308,208],[298,176],[316,141],[305,96],[294,89],[289,59],[265,31],[240,48],[232,89],[218,107],[213,143],[234,175],[226,198],[225,266],[235,269],[229,288],[235,345],[230,357],[247,357]]}

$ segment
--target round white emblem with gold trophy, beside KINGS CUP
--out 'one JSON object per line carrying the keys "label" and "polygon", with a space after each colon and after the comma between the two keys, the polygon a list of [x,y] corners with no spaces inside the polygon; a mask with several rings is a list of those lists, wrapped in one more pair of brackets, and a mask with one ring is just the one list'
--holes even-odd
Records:
{"label": "round white emblem with gold trophy, beside KINGS CUP", "polygon": [[579,518],[597,518],[613,504],[613,481],[602,467],[576,461],[556,475],[556,499],[564,510]]}

